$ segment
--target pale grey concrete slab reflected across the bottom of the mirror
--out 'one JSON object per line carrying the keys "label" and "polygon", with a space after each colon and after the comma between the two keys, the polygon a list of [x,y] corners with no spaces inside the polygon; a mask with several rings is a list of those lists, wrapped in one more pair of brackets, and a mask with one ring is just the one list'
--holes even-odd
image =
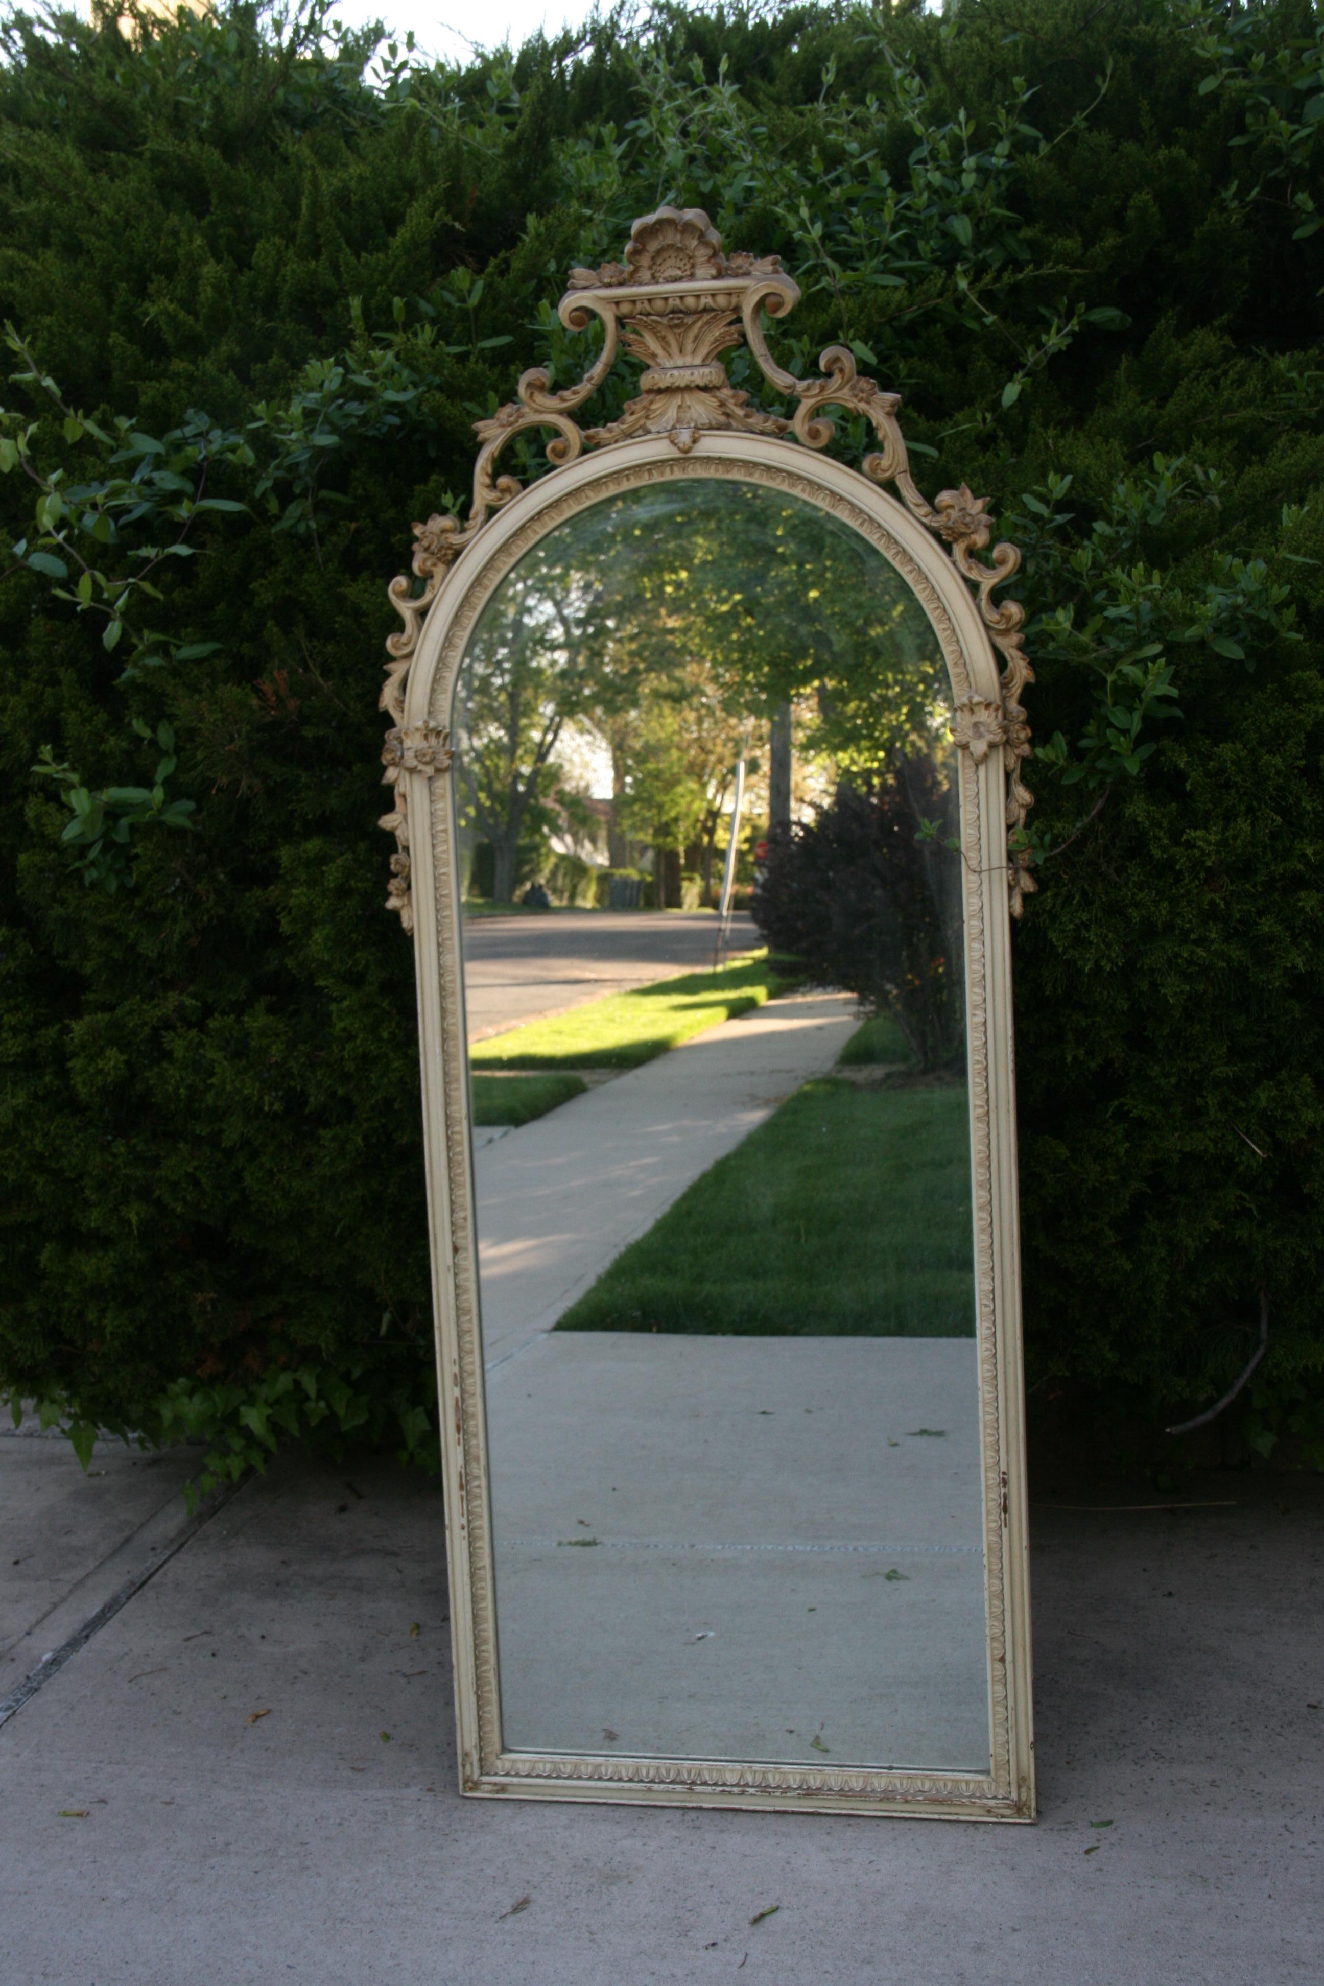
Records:
{"label": "pale grey concrete slab reflected across the bottom of the mirror", "polygon": [[971,1339],[558,1331],[488,1432],[508,1746],[987,1772]]}

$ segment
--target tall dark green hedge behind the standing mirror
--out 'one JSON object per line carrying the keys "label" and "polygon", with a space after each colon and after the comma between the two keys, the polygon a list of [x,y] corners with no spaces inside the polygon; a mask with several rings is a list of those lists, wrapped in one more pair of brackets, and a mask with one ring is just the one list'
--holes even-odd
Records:
{"label": "tall dark green hedge behind the standing mirror", "polygon": [[[1266,1287],[1247,1430],[1324,1454],[1318,8],[663,4],[463,71],[320,0],[4,40],[0,300],[62,397],[8,389],[0,479],[4,1382],[216,1468],[431,1450],[383,584],[520,367],[578,373],[566,270],[673,199],[780,252],[794,367],[854,344],[1028,552],[1032,1380],[1205,1404]],[[189,409],[242,508],[189,516]]]}

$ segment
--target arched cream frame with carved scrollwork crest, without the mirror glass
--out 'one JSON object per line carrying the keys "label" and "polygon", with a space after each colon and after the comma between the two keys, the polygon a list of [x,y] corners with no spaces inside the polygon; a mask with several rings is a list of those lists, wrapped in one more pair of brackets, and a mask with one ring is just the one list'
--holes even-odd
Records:
{"label": "arched cream frame with carved scrollwork crest, without the mirror glass", "polygon": [[[623,264],[574,270],[562,322],[601,324],[584,379],[552,391],[528,371],[518,399],[476,423],[482,443],[464,522],[415,524],[413,572],[393,580],[403,632],[387,643],[381,707],[395,834],[389,908],[415,941],[423,1128],[437,1323],[443,1491],[459,1772],[466,1793],[611,1799],[746,1809],[1034,1817],[1030,1619],[1026,1577],[1024,1406],[1010,916],[1034,888],[1022,848],[1032,804],[1020,693],[1032,679],[1022,610],[993,592],[1018,568],[967,487],[929,504],[909,475],[899,399],[861,379],[846,348],[796,379],[768,352],[762,320],[798,288],[776,258],[725,256],[697,209],[637,220]],[[605,427],[574,415],[607,381],[619,346],[645,361],[637,395]],[[732,387],[723,352],[744,342],[788,397],[766,413]],[[828,453],[824,409],[863,415],[879,441],[861,469]],[[498,475],[508,441],[552,431],[550,471],[528,487]],[[474,1160],[464,1025],[463,929],[453,802],[453,699],[466,643],[506,576],[558,526],[631,491],[689,483],[764,487],[858,532],[915,596],[951,677],[951,739],[961,788],[967,955],[969,1120],[979,1392],[979,1499],[985,1565],[989,1770],[750,1762],[713,1756],[512,1750],[502,1736],[494,1601],[492,1480],[474,1231]],[[897,495],[885,487],[891,485]]]}

